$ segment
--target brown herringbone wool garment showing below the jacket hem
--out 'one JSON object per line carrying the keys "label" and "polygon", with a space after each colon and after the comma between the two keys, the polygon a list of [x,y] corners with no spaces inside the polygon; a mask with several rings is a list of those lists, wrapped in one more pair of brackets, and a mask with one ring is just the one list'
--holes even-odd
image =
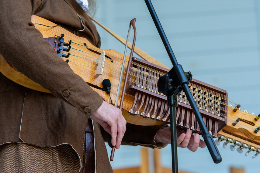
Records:
{"label": "brown herringbone wool garment showing below the jacket hem", "polygon": [[57,147],[26,143],[0,145],[1,173],[78,173],[79,169],[78,156],[67,144]]}

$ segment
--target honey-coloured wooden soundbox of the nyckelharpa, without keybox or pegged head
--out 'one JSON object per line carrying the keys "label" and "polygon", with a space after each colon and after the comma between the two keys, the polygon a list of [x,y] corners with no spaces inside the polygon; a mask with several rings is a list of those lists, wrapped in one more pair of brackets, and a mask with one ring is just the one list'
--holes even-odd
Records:
{"label": "honey-coloured wooden soundbox of the nyckelharpa, without keybox or pegged head", "polygon": [[[32,15],[32,22],[33,23],[40,23],[47,26],[54,26],[53,22],[50,22],[46,19],[43,19],[41,17]],[[66,29],[63,29],[61,27],[54,27],[49,28],[43,25],[35,25],[36,29],[38,29],[41,34],[43,35],[43,38],[49,38],[54,37],[55,35],[60,36],[61,33],[64,34],[64,42],[68,42],[68,40],[72,40],[72,42],[76,42],[77,44],[71,43],[71,49],[70,53],[71,55],[76,56],[69,56],[69,66],[71,69],[81,76],[83,80],[85,80],[90,86],[97,92],[99,95],[108,103],[110,103],[110,99],[106,91],[99,90],[103,88],[102,81],[104,79],[109,79],[111,82],[111,99],[113,103],[115,103],[116,100],[116,91],[118,88],[119,83],[119,77],[120,77],[120,70],[122,67],[122,59],[123,55],[116,52],[113,49],[105,50],[105,54],[107,57],[111,58],[113,61],[111,61],[109,58],[105,59],[104,64],[104,71],[102,75],[95,77],[95,70],[96,70],[96,59],[99,57],[99,55],[103,52],[103,49],[99,49],[95,46],[93,46],[86,38],[78,37],[72,34],[71,32],[67,31]],[[82,46],[86,45],[86,46]],[[87,48],[88,47],[88,48]],[[80,50],[80,51],[79,51]],[[93,53],[95,52],[95,53]],[[79,57],[81,58],[79,58]],[[124,72],[123,72],[123,79],[121,82],[120,92],[119,92],[119,98],[118,103],[120,103],[120,98],[122,94],[122,88],[124,83],[124,76],[125,71],[127,68],[129,57],[126,57],[126,62],[124,63]],[[66,58],[63,58],[63,60],[66,60]],[[4,57],[0,54],[0,71],[3,73],[7,78],[11,79],[12,81],[33,89],[40,92],[50,93],[50,91],[46,90],[40,84],[33,82],[28,77],[26,77],[23,73],[20,73],[18,70],[15,69],[15,67],[12,66],[11,63],[7,62]],[[123,103],[123,110],[122,113],[127,120],[127,122],[130,122],[132,124],[138,124],[138,125],[158,125],[163,124],[162,122],[154,121],[151,119],[147,119],[146,121],[143,121],[142,117],[135,117],[132,118],[130,114],[127,113],[127,111],[132,106],[133,102],[133,96],[126,95],[124,97],[124,103]],[[126,111],[127,110],[127,111]]]}

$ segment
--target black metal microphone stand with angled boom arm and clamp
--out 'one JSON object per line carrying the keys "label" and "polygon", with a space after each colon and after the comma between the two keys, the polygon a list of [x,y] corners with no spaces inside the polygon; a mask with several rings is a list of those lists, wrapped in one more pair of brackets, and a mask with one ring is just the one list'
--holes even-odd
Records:
{"label": "black metal microphone stand with angled boom arm and clamp", "polygon": [[207,148],[211,154],[211,157],[214,163],[220,163],[222,158],[217,149],[216,144],[213,141],[212,135],[208,132],[206,125],[203,122],[201,114],[198,107],[196,106],[195,101],[193,100],[192,94],[190,93],[188,84],[192,79],[192,74],[190,72],[184,72],[182,66],[178,64],[172,48],[168,42],[168,39],[163,31],[161,23],[158,19],[158,16],[155,13],[154,7],[150,0],[144,0],[147,8],[151,14],[151,17],[154,21],[154,24],[159,32],[159,35],[164,43],[165,49],[168,53],[168,56],[172,62],[173,68],[165,75],[160,76],[157,87],[158,91],[167,95],[168,107],[170,109],[170,125],[171,125],[171,142],[172,142],[172,171],[178,173],[178,158],[177,158],[177,144],[176,144],[176,107],[177,107],[177,94],[184,90],[187,99],[189,100],[190,106],[193,113],[199,123],[199,127],[203,133],[204,141],[207,145]]}

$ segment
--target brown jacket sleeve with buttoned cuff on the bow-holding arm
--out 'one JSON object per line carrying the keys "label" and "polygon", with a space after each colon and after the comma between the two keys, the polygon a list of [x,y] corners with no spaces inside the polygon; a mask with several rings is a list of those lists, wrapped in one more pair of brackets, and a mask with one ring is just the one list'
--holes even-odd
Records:
{"label": "brown jacket sleeve with buttoned cuff on the bow-holding arm", "polygon": [[[90,117],[103,99],[71,70],[34,27],[31,15],[41,3],[41,0],[0,2],[0,53],[21,73]],[[63,95],[66,90],[70,91],[69,96]]]}

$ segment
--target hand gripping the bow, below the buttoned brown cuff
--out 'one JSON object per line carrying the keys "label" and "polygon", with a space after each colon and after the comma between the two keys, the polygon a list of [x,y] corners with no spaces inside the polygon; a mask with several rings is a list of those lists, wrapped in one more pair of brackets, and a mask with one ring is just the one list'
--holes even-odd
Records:
{"label": "hand gripping the bow, below the buttoned brown cuff", "polygon": [[111,143],[119,149],[126,131],[126,120],[120,109],[103,101],[102,105],[91,116],[91,119],[99,123],[105,131],[112,136]]}

